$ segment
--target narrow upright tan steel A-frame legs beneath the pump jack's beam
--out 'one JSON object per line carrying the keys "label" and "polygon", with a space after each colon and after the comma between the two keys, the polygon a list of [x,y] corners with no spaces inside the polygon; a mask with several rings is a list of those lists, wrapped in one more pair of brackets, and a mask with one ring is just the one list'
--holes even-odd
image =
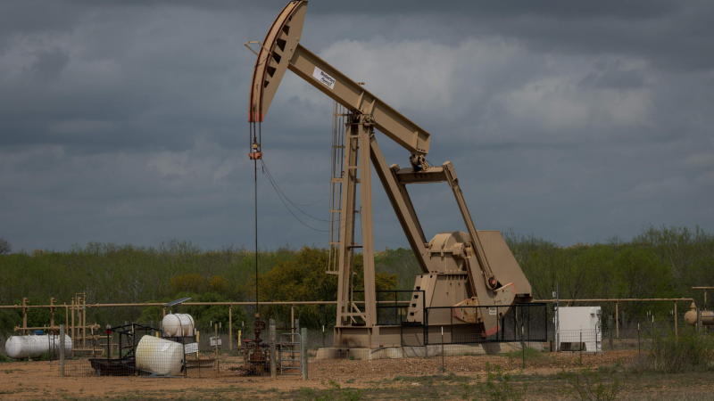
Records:
{"label": "narrow upright tan steel A-frame legs beneath the pump jack's beam", "polygon": [[[374,282],[374,236],[372,232],[372,185],[369,165],[369,138],[374,135],[369,114],[353,114],[345,133],[345,176],[340,227],[340,256],[337,282],[336,326],[377,324],[377,297]],[[359,175],[358,175],[359,171]],[[361,211],[356,209],[357,184],[360,184]],[[354,241],[356,215],[361,218],[361,244]],[[364,266],[364,302],[354,297],[354,250],[362,250]],[[361,298],[361,297],[359,297]],[[362,299],[359,299],[360,301]],[[336,339],[339,341],[339,339]]]}

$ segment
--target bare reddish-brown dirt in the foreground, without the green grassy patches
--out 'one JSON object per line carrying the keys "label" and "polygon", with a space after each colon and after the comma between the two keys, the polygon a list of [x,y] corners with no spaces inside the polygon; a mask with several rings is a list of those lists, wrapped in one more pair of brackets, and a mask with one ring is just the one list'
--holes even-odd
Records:
{"label": "bare reddish-brown dirt in the foreground, without the green grassy patches", "polygon": [[[486,363],[498,364],[522,375],[544,376],[581,366],[627,364],[637,351],[612,351],[605,355],[543,354],[527,360],[520,371],[520,358],[510,356],[446,356],[444,368],[458,380],[473,380],[483,375]],[[381,360],[316,360],[309,362],[309,380],[298,376],[243,377],[237,374],[189,378],[158,379],[145,377],[59,377],[57,362],[12,362],[0,364],[0,399],[312,399],[312,389],[343,388],[387,390],[421,385],[419,377],[441,374],[442,358],[404,358]],[[443,377],[443,376],[442,376]],[[330,384],[330,381],[334,383]],[[387,385],[383,383],[387,383]],[[711,382],[711,381],[710,381]],[[455,389],[458,387],[454,385]],[[444,390],[446,391],[446,390]],[[435,393],[436,394],[436,393]],[[442,399],[452,399],[453,391]],[[438,394],[436,394],[438,396]],[[373,398],[373,397],[369,397]],[[377,397],[375,399],[379,399]],[[403,398],[403,397],[402,397]],[[458,398],[454,396],[453,398]],[[532,398],[530,398],[532,399]],[[699,398],[697,398],[699,399]]]}

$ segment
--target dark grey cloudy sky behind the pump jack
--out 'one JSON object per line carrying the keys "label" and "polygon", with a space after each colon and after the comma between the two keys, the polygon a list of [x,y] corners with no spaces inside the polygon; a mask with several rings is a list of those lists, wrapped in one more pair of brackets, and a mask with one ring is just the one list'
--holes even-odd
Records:
{"label": "dark grey cloudy sky behind the pump jack", "polygon": [[[3,1],[0,237],[252,248],[243,44],[285,3]],[[428,160],[454,163],[477,228],[569,245],[714,231],[712,16],[710,1],[311,0],[301,43],[428,129]],[[331,113],[288,71],[262,124],[270,173],[322,219]],[[326,246],[261,173],[261,246]],[[410,190],[428,238],[464,229],[448,185]],[[406,247],[373,193],[376,248]]]}

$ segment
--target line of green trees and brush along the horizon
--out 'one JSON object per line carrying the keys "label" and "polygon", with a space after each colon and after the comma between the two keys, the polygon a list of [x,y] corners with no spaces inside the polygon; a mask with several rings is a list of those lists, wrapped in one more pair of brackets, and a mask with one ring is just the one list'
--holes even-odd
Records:
{"label": "line of green trees and brush along the horizon", "polygon": [[[700,227],[646,227],[629,241],[612,237],[602,243],[569,247],[512,230],[504,237],[533,287],[535,299],[551,299],[556,285],[561,299],[693,298],[703,305],[702,291],[693,286],[714,284],[714,235]],[[7,242],[4,242],[9,247]],[[328,250],[281,247],[258,255],[261,301],[336,300],[336,275],[325,274]],[[378,290],[411,290],[419,265],[411,250],[383,250],[375,256]],[[361,255],[355,257],[355,284],[361,285]],[[46,305],[51,297],[70,303],[76,292],[87,303],[192,301],[254,301],[255,253],[235,247],[202,250],[190,241],[167,241],[157,248],[90,242],[66,251],[35,250],[0,254],[0,305]],[[358,284],[359,283],[359,284]],[[359,288],[358,288],[359,289]],[[611,305],[602,304],[603,314]],[[620,304],[621,314],[652,312],[666,315],[671,304]],[[682,305],[679,313],[688,305]],[[179,307],[199,325],[228,324],[228,307]],[[161,307],[89,309],[88,322],[120,324],[158,322]],[[262,318],[288,323],[289,307],[264,307]],[[252,307],[233,307],[234,329],[252,320]],[[331,328],[334,307],[295,309],[303,325]],[[64,310],[55,314],[64,321]],[[29,325],[49,322],[49,311],[30,309]],[[0,331],[21,325],[21,310],[0,310]],[[240,326],[240,327],[239,327]],[[326,329],[327,330],[327,329]]]}

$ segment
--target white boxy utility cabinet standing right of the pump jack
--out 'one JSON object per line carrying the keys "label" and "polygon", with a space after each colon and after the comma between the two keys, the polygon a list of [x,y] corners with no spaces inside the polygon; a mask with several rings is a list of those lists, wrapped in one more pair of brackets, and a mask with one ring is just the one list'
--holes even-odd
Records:
{"label": "white boxy utility cabinet standing right of the pump jack", "polygon": [[600,307],[560,307],[561,351],[602,351],[602,310]]}

